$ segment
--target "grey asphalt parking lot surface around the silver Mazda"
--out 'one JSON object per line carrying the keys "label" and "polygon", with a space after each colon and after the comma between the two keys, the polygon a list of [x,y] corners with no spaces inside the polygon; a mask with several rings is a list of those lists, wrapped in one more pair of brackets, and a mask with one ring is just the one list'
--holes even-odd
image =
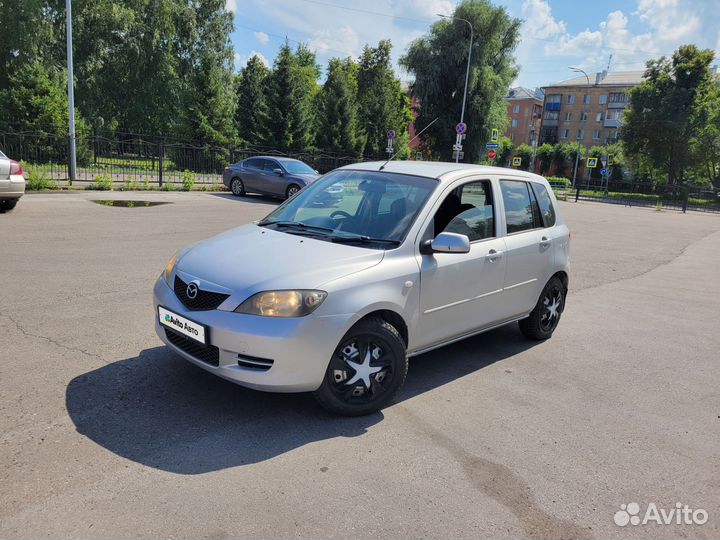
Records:
{"label": "grey asphalt parking lot surface around the silver Mazda", "polygon": [[[276,204],[48,193],[0,214],[0,537],[720,536],[720,216],[561,203],[555,336],[413,358],[392,406],[348,419],[155,336],[175,250]],[[708,520],[616,525],[631,502]]]}

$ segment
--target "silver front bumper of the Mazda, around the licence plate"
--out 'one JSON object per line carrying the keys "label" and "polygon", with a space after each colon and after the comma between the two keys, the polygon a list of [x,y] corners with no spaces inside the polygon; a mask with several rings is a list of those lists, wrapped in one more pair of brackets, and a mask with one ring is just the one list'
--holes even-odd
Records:
{"label": "silver front bumper of the Mazda, around the licence plate", "polygon": [[[213,366],[168,339],[158,320],[157,307],[203,324],[207,341],[219,349],[218,365]],[[177,354],[193,364],[229,381],[270,392],[309,392],[322,384],[335,347],[358,319],[356,314],[297,318],[271,318],[233,311],[191,311],[158,278],[154,289],[155,331]],[[244,359],[272,360],[269,369],[246,368]]]}

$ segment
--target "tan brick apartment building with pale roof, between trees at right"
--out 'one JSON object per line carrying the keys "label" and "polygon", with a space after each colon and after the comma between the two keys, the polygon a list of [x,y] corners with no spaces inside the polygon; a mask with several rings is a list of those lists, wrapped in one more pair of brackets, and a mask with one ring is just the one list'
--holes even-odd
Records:
{"label": "tan brick apartment building with pale roof, between trees at right", "polygon": [[588,73],[546,86],[540,144],[579,142],[586,147],[618,141],[630,90],[643,71]]}

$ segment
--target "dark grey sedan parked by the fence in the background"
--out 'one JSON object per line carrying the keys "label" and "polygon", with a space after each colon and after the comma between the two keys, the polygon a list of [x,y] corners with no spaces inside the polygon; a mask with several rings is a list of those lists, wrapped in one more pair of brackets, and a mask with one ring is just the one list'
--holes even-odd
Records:
{"label": "dark grey sedan parked by the fence in the background", "polygon": [[260,193],[289,199],[319,177],[315,169],[300,160],[256,156],[225,167],[223,184],[236,196]]}

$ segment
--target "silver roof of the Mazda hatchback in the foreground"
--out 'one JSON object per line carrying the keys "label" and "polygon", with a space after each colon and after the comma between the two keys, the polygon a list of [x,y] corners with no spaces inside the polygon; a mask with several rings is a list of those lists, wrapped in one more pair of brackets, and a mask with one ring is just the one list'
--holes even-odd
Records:
{"label": "silver roof of the Mazda hatchback in the foreground", "polygon": [[448,163],[443,161],[365,161],[362,163],[353,163],[340,167],[342,169],[352,169],[357,171],[379,171],[380,166],[385,164],[382,172],[391,172],[398,174],[412,174],[414,176],[425,176],[435,178],[441,182],[449,182],[456,178],[467,176],[468,174],[492,174],[500,175],[506,178],[523,178],[526,180],[534,180],[536,182],[547,182],[542,176],[516,169],[507,169],[505,167],[489,167],[487,165],[473,165],[470,163]]}

